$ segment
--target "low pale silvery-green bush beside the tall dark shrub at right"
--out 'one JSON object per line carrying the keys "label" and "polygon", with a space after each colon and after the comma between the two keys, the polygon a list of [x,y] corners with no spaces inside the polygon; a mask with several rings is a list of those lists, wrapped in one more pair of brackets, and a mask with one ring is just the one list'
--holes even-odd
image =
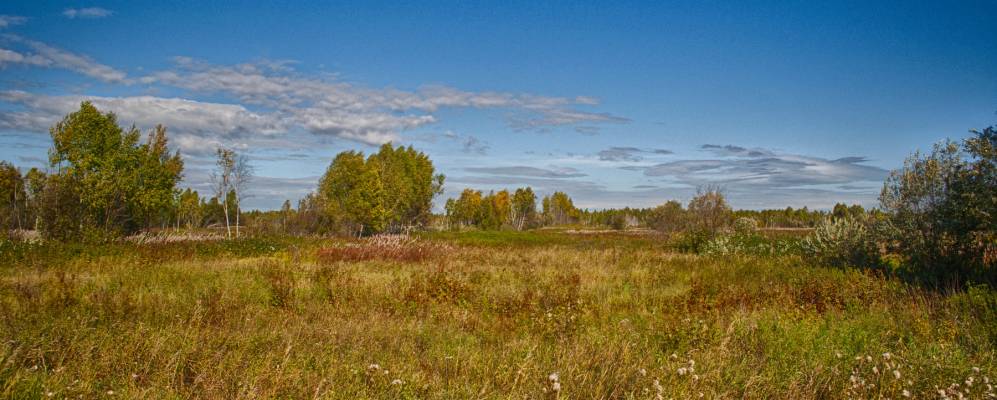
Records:
{"label": "low pale silvery-green bush beside the tall dark shrub at right", "polygon": [[843,267],[879,265],[874,236],[863,221],[854,218],[825,219],[803,239],[804,256],[817,264]]}

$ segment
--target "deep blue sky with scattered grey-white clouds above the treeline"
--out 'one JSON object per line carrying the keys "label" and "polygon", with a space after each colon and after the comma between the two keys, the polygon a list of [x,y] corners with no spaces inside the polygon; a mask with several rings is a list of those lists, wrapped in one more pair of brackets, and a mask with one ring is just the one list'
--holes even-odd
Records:
{"label": "deep blue sky with scattered grey-white clouds above the treeline", "polygon": [[248,154],[251,207],[391,140],[433,158],[444,197],[643,207],[714,184],[828,208],[997,123],[997,2],[822,3],[8,1],[0,159],[42,166],[91,99],[167,125],[185,186],[206,190],[214,147]]}

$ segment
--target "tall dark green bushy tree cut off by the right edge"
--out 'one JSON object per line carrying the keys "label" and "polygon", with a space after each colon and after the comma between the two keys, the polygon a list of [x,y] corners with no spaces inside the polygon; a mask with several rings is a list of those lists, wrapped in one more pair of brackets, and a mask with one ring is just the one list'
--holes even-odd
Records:
{"label": "tall dark green bushy tree cut off by the right edge", "polygon": [[936,283],[997,282],[997,130],[973,134],[911,155],[880,195],[883,240]]}

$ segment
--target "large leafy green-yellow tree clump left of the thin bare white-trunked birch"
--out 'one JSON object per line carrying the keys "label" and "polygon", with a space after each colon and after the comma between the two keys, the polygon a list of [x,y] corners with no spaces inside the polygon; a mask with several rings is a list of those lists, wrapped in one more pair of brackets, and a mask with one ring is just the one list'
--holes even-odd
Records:
{"label": "large leafy green-yellow tree clump left of the thin bare white-trunked birch", "polygon": [[[113,113],[89,102],[51,129],[51,167],[39,210],[47,237],[84,239],[134,232],[157,222],[174,204],[182,177],[179,153],[170,155],[162,126],[139,143]],[[48,186],[53,186],[51,190]],[[55,207],[55,208],[52,208]]]}

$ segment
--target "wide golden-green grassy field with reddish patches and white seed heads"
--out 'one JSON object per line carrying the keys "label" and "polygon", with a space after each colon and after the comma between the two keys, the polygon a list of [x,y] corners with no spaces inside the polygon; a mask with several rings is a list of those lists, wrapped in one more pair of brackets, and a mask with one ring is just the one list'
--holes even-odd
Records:
{"label": "wide golden-green grassy field with reddish patches and white seed heads", "polygon": [[990,398],[997,294],[655,236],[0,247],[2,398]]}

